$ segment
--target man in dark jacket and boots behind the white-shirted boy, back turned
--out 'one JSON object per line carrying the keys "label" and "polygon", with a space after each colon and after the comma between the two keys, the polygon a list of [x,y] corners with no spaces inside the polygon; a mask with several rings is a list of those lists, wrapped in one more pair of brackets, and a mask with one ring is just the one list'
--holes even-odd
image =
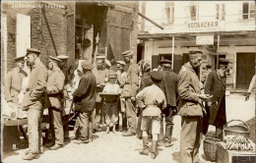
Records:
{"label": "man in dark jacket and boots behind the white-shirted boy, back turned", "polygon": [[[173,73],[171,70],[171,61],[167,59],[160,60],[160,67],[162,68],[162,81],[160,84],[160,88],[163,90],[166,100],[167,106],[163,110],[163,114],[165,116],[165,147],[172,146],[171,143],[171,136],[173,130],[173,117],[176,114],[176,101],[178,97],[178,76]],[[163,138],[163,124],[161,123],[161,130],[160,130],[160,139]],[[161,140],[160,143],[161,144]]]}

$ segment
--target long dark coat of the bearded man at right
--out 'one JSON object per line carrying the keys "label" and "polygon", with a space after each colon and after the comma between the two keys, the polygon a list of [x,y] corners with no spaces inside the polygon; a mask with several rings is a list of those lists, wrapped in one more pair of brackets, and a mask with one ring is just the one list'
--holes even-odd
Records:
{"label": "long dark coat of the bearded man at right", "polygon": [[210,99],[213,105],[210,109],[210,125],[223,126],[226,123],[225,117],[225,78],[221,78],[217,71],[211,72],[207,78],[205,93],[211,94]]}

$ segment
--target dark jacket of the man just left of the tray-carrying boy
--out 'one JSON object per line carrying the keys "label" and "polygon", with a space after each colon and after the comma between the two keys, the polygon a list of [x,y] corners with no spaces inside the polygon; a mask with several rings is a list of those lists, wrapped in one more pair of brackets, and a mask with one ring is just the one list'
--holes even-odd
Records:
{"label": "dark jacket of the man just left of the tray-carrying boy", "polygon": [[96,76],[91,71],[84,74],[78,88],[73,93],[73,99],[77,111],[94,111],[96,106]]}

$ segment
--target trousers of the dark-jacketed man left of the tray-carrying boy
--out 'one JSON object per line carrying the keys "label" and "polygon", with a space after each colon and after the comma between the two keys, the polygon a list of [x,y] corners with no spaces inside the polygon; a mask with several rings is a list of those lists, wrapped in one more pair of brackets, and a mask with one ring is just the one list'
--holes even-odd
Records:
{"label": "trousers of the dark-jacketed man left of the tray-carrying boy", "polygon": [[81,139],[93,138],[93,115],[93,112],[79,113],[75,126],[79,127]]}

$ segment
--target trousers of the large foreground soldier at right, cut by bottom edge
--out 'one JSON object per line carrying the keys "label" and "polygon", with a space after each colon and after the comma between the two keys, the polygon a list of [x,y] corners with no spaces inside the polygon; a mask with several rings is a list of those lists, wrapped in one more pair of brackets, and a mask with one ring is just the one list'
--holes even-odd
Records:
{"label": "trousers of the large foreground soldier at right, cut by bottom edge", "polygon": [[202,126],[202,117],[181,117],[180,163],[199,163]]}

